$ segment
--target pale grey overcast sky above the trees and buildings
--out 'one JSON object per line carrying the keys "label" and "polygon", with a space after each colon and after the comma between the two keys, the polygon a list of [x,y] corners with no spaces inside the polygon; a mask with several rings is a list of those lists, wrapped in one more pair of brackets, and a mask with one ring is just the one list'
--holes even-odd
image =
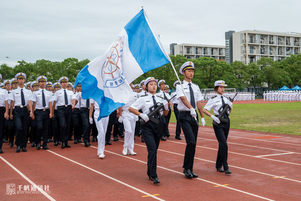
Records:
{"label": "pale grey overcast sky above the trees and buildings", "polygon": [[[225,45],[225,32],[301,32],[300,1],[0,1],[0,64],[92,60],[144,6],[169,52],[171,43]],[[10,57],[10,58],[5,58]]]}

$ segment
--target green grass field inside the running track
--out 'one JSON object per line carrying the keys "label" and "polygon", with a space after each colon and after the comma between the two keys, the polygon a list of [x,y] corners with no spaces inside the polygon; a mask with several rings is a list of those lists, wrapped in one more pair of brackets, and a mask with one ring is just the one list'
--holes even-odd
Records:
{"label": "green grass field inside the running track", "polygon": [[[205,103],[202,104],[204,107]],[[301,102],[235,104],[229,118],[230,128],[301,135]],[[205,115],[205,121],[206,126],[212,126],[209,116]],[[170,122],[176,122],[173,112]]]}

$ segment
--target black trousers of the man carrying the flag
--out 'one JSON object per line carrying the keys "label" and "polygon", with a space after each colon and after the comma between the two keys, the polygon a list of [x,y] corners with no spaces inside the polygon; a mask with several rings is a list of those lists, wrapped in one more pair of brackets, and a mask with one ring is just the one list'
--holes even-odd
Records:
{"label": "black trousers of the man carrying the flag", "polygon": [[179,122],[186,140],[183,168],[189,168],[192,171],[195,147],[197,145],[197,131],[199,130],[198,123],[191,116],[190,110],[179,111]]}

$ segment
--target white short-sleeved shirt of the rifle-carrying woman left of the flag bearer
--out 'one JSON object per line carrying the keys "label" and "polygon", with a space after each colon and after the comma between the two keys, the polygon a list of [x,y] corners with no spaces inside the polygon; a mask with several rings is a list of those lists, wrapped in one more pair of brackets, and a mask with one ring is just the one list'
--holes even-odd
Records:
{"label": "white short-sleeved shirt of the rifle-carrying woman left of the flag bearer", "polygon": [[[162,103],[164,100],[161,97],[158,97],[156,94],[154,95],[156,103]],[[146,95],[141,96],[138,100],[135,101],[131,107],[135,110],[142,110],[143,114],[148,114],[150,112],[149,108],[154,105],[153,95],[146,92]],[[163,115],[163,111],[160,111],[161,115]]]}

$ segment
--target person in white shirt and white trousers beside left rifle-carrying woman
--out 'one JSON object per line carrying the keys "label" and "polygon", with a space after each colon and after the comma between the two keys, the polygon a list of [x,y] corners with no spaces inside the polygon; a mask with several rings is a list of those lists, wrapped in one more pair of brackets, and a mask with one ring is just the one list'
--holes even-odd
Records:
{"label": "person in white shirt and white trousers beside left rifle-carrying woman", "polygon": [[[131,86],[131,84],[130,84]],[[118,122],[123,122],[124,126],[124,144],[123,144],[123,151],[122,154],[126,156],[129,155],[136,155],[134,152],[134,134],[135,134],[135,125],[138,119],[138,116],[131,113],[129,111],[129,107],[138,100],[138,94],[133,92],[133,99],[129,101],[127,104],[119,107],[119,119]]]}

